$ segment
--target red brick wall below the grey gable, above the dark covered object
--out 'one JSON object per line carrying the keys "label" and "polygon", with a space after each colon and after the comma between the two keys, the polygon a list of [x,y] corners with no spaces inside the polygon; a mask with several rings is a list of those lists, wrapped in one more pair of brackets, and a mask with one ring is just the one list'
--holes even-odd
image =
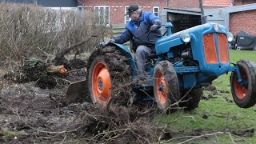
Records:
{"label": "red brick wall below the grey gable, above the dark covered object", "polygon": [[236,35],[240,30],[256,35],[256,10],[230,14],[230,31]]}

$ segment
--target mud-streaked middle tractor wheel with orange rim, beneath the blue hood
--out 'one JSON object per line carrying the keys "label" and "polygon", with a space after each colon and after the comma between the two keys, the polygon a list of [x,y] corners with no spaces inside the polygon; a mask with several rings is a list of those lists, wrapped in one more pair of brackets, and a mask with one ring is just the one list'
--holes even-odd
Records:
{"label": "mud-streaked middle tractor wheel with orange rim, beneath the blue hood", "polygon": [[160,112],[170,111],[171,104],[179,100],[178,76],[174,66],[167,61],[154,67],[154,98]]}

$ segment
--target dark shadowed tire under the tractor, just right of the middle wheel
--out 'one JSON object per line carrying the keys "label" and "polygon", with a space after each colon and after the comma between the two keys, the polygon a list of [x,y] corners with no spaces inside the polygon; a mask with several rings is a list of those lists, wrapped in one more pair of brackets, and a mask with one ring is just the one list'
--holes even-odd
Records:
{"label": "dark shadowed tire under the tractor, just right of the middle wheel", "polygon": [[188,94],[186,94],[188,91],[183,91],[181,98],[182,101],[187,101],[187,102],[181,102],[180,106],[185,107],[184,110],[194,110],[195,108],[198,107],[198,103],[201,100],[202,97],[202,88],[196,88],[190,90]]}

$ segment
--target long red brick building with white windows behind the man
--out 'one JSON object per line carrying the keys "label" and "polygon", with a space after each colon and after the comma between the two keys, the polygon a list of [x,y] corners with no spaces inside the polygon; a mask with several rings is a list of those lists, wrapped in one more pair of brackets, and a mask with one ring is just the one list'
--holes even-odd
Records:
{"label": "long red brick building with white windows behind the man", "polygon": [[[128,6],[136,4],[144,11],[151,11],[158,16],[159,10],[171,8],[199,8],[198,0],[79,0],[78,5],[85,10],[103,10],[106,15],[104,22],[109,24],[123,24],[129,22],[129,17],[124,16]],[[99,14],[101,14],[99,12]],[[102,17],[103,18],[103,17]]]}

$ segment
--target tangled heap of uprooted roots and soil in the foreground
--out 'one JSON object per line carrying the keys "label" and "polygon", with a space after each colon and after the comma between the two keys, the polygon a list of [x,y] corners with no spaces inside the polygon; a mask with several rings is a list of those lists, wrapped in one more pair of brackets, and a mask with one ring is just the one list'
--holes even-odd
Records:
{"label": "tangled heap of uprooted roots and soil in the foreground", "polygon": [[136,106],[115,106],[111,112],[88,106],[72,129],[86,143],[155,143],[171,137],[155,125],[153,113],[141,112]]}

